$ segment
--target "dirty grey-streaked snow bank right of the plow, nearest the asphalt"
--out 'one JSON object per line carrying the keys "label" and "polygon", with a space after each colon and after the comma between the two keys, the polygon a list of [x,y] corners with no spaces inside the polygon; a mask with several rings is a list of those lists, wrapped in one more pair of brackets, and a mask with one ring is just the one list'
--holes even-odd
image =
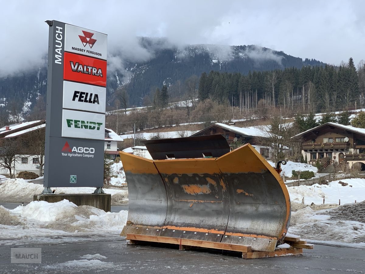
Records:
{"label": "dirty grey-streaked snow bank right of the plow, nearest the asphalt", "polygon": [[[358,221],[352,220],[349,214],[351,211],[360,211]],[[343,218],[346,215],[351,220]],[[300,235],[302,239],[312,240],[312,243],[326,241],[327,244],[335,242],[365,247],[365,202],[348,205],[347,208],[340,206],[336,209],[314,211],[307,207],[292,212],[289,232]]]}

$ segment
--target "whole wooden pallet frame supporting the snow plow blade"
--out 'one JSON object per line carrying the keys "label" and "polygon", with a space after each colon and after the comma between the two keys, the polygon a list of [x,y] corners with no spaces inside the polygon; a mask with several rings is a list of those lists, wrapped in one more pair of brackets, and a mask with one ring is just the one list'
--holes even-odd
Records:
{"label": "whole wooden pallet frame supporting the snow plow blade", "polygon": [[[227,244],[211,241],[180,239],[151,235],[127,234],[126,240],[128,240],[128,244],[143,244],[143,242],[176,244],[179,246],[179,250],[190,250],[192,248],[204,247],[219,250],[237,251],[242,253],[243,259],[302,255],[303,248],[313,249],[313,245],[308,245],[306,242],[304,243],[304,241],[300,241],[299,237],[298,239],[294,239],[296,241],[292,241],[293,244],[290,248],[276,248],[273,252],[253,251],[251,250],[251,246],[244,246],[242,244]],[[285,242],[290,242],[289,240],[293,239],[285,238]]]}

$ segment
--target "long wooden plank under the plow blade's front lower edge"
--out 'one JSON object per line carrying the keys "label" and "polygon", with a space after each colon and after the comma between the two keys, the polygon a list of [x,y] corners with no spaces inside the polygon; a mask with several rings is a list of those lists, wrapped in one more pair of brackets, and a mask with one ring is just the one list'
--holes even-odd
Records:
{"label": "long wooden plank under the plow blade's front lower edge", "polygon": [[216,243],[211,241],[178,239],[178,238],[163,237],[163,236],[127,234],[126,239],[137,240],[137,241],[151,241],[155,243],[178,244],[179,246],[205,247],[205,248],[213,248],[221,250],[238,251],[238,252],[251,251],[251,246],[244,246],[242,244]]}

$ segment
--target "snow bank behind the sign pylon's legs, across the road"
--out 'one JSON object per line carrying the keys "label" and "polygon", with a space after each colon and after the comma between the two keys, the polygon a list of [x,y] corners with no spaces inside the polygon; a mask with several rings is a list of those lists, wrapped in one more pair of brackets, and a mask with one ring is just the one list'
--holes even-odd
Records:
{"label": "snow bank behind the sign pylon's legs, across the road", "polygon": [[[1,202],[28,203],[33,201],[34,194],[42,193],[42,184],[34,184],[24,179],[8,179],[0,185]],[[56,194],[93,193],[95,187],[54,187]],[[112,205],[128,202],[127,190],[104,189],[105,193],[112,195]]]}

